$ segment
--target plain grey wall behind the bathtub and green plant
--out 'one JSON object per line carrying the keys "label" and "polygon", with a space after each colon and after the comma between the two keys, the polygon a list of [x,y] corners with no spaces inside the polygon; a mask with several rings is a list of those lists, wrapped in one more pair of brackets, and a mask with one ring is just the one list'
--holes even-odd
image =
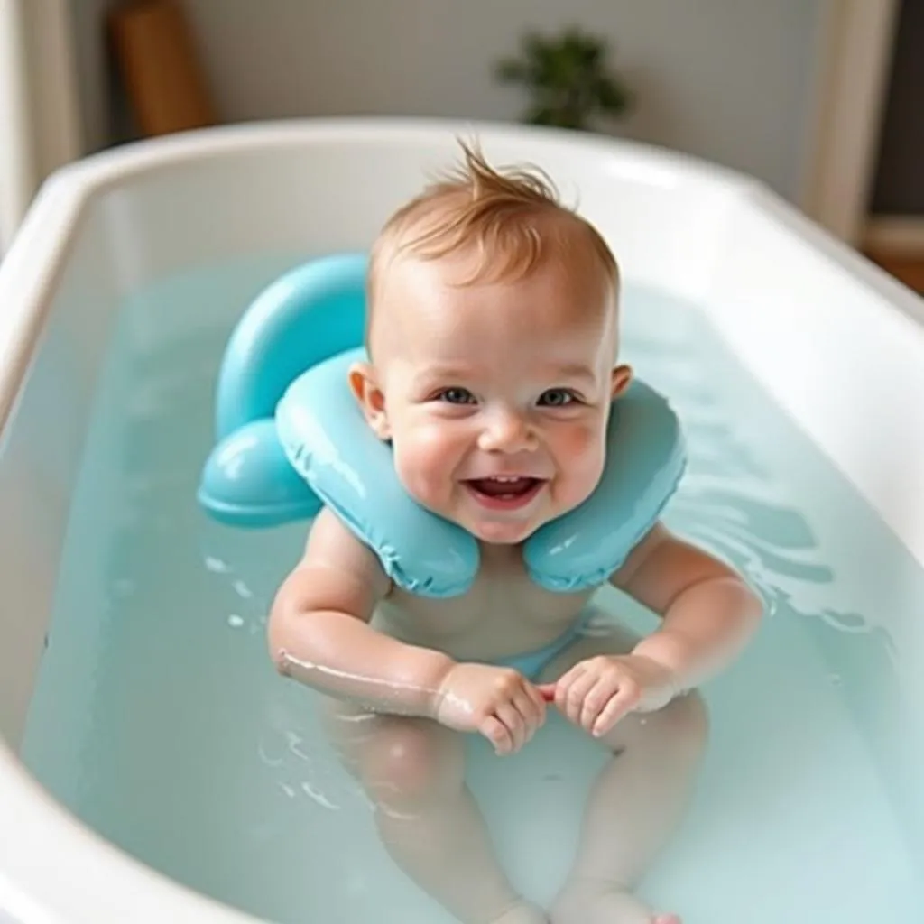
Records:
{"label": "plain grey wall behind the bathtub and green plant", "polygon": [[[791,199],[800,189],[826,0],[183,3],[226,120],[513,119],[523,99],[492,82],[492,61],[526,28],[577,22],[611,38],[635,82],[627,134],[747,171]],[[97,40],[84,29],[83,41]],[[98,127],[99,113],[89,117]]]}

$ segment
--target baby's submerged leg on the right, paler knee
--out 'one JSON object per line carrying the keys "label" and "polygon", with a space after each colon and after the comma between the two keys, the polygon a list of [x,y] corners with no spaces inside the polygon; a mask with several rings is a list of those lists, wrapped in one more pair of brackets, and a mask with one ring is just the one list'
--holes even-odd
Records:
{"label": "baby's submerged leg on the right, paler knee", "polygon": [[[543,678],[601,653],[625,654],[634,639],[618,629],[582,638]],[[706,736],[706,709],[693,692],[662,710],[627,715],[602,741],[613,753],[590,793],[581,844],[553,924],[679,924],[633,894],[664,841],[680,821]]]}

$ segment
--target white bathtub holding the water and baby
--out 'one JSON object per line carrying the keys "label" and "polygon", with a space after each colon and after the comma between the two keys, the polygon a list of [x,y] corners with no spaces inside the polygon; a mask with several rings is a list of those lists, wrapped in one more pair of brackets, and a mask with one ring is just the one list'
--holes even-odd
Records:
{"label": "white bathtub holding the water and baby", "polygon": [[[4,924],[255,919],[108,843],[18,760],[120,299],[205,261],[367,247],[425,171],[455,156],[456,132],[472,130],[492,159],[537,161],[566,195],[579,190],[627,278],[702,306],[924,565],[922,302],[747,177],[577,134],[407,121],[225,128],[91,158],[45,185],[0,265]],[[843,539],[817,526],[822,545]],[[894,651],[903,693],[924,701],[921,629],[894,626]]]}

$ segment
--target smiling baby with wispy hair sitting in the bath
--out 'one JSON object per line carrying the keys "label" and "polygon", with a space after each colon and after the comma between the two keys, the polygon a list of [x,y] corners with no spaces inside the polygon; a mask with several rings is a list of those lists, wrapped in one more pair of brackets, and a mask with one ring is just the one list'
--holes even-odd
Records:
{"label": "smiling baby with wispy hair sitting in the bath", "polygon": [[[611,583],[662,616],[583,634],[590,591],[531,581],[522,543],[581,504],[604,466],[619,274],[538,172],[464,164],[401,208],[371,254],[368,364],[349,384],[420,505],[480,546],[468,592],[395,587],[329,510],[278,591],[280,672],[325,697],[334,746],[401,869],[465,924],[678,924],[633,894],[679,820],[707,735],[687,692],[728,663],[761,606],[726,565],[650,530]],[[465,782],[463,741],[523,748],[554,708],[613,758],[548,912],[516,893]]]}

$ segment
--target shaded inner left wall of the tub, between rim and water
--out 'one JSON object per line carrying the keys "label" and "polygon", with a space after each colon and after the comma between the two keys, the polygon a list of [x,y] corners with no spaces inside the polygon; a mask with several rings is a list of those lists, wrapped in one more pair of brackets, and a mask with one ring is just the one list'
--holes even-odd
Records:
{"label": "shaded inner left wall of the tub, between rim and water", "polygon": [[[103,215],[91,206],[0,439],[0,734],[14,746],[42,656],[94,388],[119,303],[108,250]],[[103,483],[115,485],[117,463],[113,447],[99,472]],[[100,504],[110,496],[100,492]],[[91,600],[102,599],[93,586],[101,574],[90,567],[85,575]]]}

